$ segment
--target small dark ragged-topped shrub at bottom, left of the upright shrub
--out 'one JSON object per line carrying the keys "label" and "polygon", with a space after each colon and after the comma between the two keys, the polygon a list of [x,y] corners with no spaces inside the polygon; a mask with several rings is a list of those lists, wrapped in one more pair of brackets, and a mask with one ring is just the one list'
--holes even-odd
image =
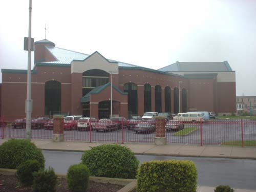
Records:
{"label": "small dark ragged-topped shrub at bottom, left of the upright shrub", "polygon": [[34,192],[54,192],[57,184],[57,176],[54,169],[40,169],[33,173],[33,191]]}

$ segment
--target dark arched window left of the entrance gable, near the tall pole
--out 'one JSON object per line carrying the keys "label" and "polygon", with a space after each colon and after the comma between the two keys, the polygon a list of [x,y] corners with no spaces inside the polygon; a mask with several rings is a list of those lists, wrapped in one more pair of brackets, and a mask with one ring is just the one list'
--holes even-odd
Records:
{"label": "dark arched window left of the entrance gable, near the tall pole", "polygon": [[61,83],[47,81],[45,83],[45,115],[61,113]]}

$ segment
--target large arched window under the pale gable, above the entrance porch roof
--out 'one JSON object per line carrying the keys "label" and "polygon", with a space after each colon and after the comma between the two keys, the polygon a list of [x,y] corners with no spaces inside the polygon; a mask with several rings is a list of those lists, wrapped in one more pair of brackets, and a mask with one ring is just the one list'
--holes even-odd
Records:
{"label": "large arched window under the pale gable, above the entrance porch roof", "polygon": [[92,69],[82,73],[82,96],[109,82],[109,73]]}

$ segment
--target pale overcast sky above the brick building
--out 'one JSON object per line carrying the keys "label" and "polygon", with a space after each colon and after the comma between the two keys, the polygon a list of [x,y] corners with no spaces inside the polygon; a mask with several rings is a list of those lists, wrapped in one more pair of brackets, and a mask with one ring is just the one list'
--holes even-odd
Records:
{"label": "pale overcast sky above the brick building", "polygon": [[[27,69],[28,7],[29,0],[0,3],[1,69]],[[35,41],[45,38],[45,24],[56,47],[152,69],[227,60],[237,96],[256,95],[256,0],[32,0]]]}

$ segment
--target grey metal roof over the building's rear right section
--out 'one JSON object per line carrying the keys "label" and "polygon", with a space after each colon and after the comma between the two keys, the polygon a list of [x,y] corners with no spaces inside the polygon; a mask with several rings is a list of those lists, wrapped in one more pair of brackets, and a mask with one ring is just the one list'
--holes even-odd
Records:
{"label": "grey metal roof over the building's rear right section", "polygon": [[165,72],[187,71],[232,71],[227,61],[223,62],[179,62],[158,69]]}

